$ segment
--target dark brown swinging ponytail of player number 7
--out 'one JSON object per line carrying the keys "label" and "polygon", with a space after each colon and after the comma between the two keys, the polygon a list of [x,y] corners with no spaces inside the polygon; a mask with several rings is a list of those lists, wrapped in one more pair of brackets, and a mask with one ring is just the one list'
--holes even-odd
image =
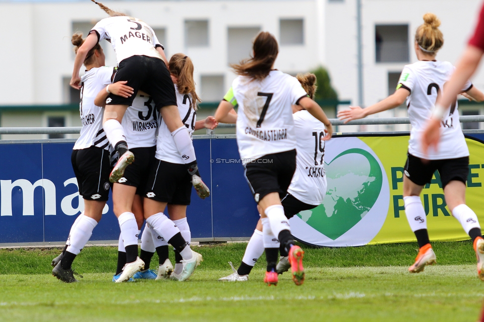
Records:
{"label": "dark brown swinging ponytail of player number 7", "polygon": [[243,59],[240,64],[230,66],[238,75],[262,80],[269,75],[277,54],[279,54],[279,46],[274,35],[261,31],[255,37],[252,49],[254,50],[253,57]]}

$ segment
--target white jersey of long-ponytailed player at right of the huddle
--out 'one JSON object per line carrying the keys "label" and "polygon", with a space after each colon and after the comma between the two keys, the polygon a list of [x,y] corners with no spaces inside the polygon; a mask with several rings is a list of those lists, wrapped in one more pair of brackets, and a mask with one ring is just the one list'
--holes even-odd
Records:
{"label": "white jersey of long-ponytailed player at right of the huddle", "polygon": [[[196,111],[191,107],[191,95],[180,94],[177,85],[175,85],[175,92],[177,93],[178,111],[182,117],[183,124],[185,124],[191,136],[195,130],[196,122]],[[175,145],[172,133],[163,119],[160,122],[160,131],[158,133],[158,140],[156,141],[156,159],[171,163],[185,163]]]}

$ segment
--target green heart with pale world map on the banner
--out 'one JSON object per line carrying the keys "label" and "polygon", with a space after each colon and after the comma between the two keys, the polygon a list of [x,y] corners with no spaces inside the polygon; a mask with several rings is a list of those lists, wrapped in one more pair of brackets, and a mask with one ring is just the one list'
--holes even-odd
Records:
{"label": "green heart with pale world map on the banner", "polygon": [[298,216],[323,235],[337,239],[375,204],[382,187],[378,161],[367,151],[348,149],[325,164],[327,191],[318,207]]}

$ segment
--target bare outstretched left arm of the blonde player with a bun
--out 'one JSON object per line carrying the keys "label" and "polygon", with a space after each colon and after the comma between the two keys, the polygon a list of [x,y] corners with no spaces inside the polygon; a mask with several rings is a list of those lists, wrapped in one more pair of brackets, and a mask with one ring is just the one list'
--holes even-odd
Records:
{"label": "bare outstretched left arm of the blonde player with a bun", "polygon": [[410,92],[407,89],[399,88],[395,93],[376,104],[366,108],[351,106],[350,109],[340,110],[337,116],[339,119],[345,120],[345,123],[348,123],[351,120],[360,119],[371,114],[400,106],[405,102],[409,95]]}

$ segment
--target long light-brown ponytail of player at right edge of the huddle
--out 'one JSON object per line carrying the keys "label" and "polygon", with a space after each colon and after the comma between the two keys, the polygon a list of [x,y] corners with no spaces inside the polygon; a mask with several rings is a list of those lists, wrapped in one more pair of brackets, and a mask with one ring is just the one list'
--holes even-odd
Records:
{"label": "long light-brown ponytail of player at right edge of the huddle", "polygon": [[180,94],[191,94],[192,107],[197,108],[197,103],[202,100],[195,92],[195,81],[193,81],[193,63],[190,57],[185,54],[174,54],[168,63],[170,74],[178,78],[178,91]]}

